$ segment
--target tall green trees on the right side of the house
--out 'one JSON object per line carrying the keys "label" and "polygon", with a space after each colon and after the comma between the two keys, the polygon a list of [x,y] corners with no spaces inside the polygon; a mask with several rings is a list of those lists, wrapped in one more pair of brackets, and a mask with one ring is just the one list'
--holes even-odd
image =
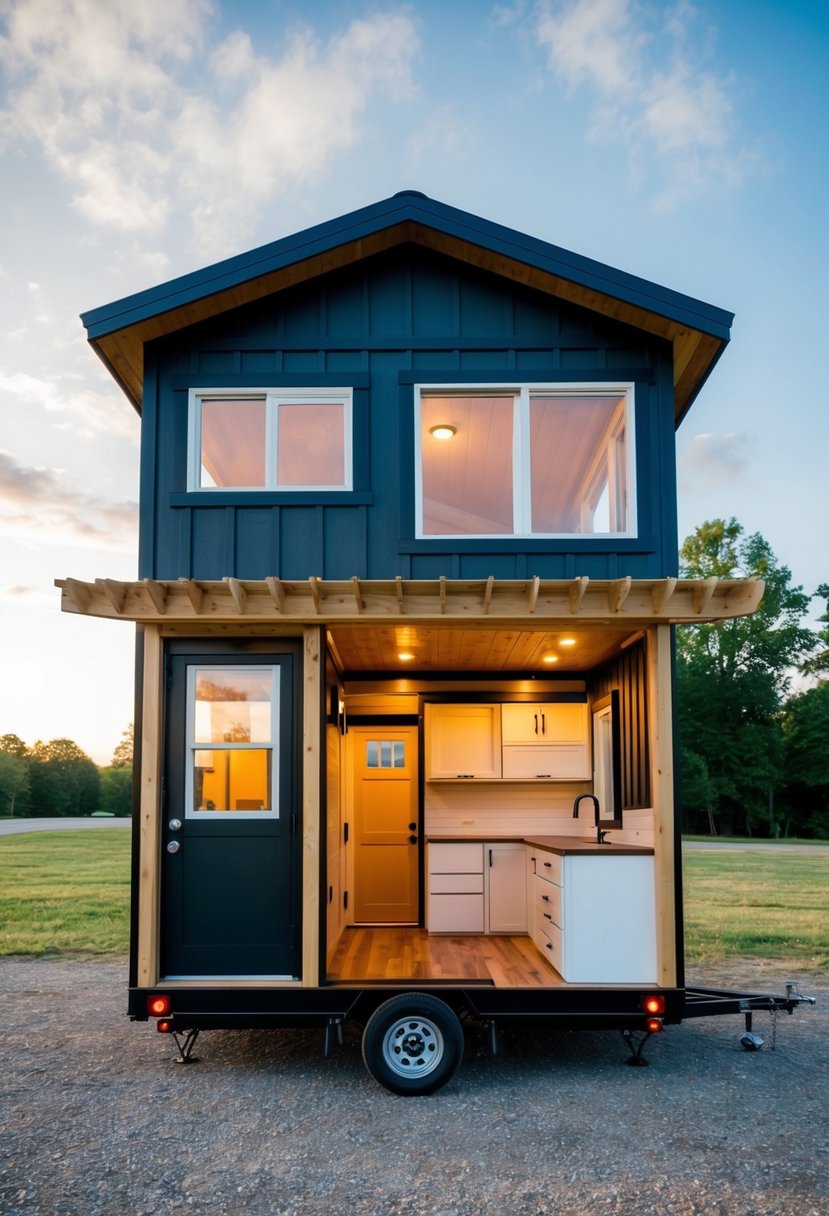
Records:
{"label": "tall green trees on the right side of the house", "polygon": [[829,585],[807,629],[814,597],[733,518],[701,524],[679,559],[683,578],[766,582],[751,617],[677,627],[683,829],[829,837]]}

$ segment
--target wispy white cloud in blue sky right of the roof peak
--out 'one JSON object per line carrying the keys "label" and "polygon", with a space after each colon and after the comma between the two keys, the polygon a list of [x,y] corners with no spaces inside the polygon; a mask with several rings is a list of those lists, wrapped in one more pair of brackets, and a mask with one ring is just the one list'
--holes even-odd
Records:
{"label": "wispy white cloud in blue sky right of the roof peak", "polygon": [[686,0],[538,0],[535,10],[553,73],[593,94],[591,136],[622,140],[632,162],[661,180],[652,187],[655,209],[698,190],[731,190],[758,169],[738,142],[735,81],[707,67],[711,32],[698,29],[698,16]]}

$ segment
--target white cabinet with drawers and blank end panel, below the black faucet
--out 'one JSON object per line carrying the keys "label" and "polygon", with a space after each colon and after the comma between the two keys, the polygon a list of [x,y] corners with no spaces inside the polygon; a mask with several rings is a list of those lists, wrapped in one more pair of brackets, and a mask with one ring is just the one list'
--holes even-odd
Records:
{"label": "white cabinet with drawers and blank end panel, below the black faucet", "polygon": [[528,846],[530,936],[569,984],[655,984],[654,858]]}

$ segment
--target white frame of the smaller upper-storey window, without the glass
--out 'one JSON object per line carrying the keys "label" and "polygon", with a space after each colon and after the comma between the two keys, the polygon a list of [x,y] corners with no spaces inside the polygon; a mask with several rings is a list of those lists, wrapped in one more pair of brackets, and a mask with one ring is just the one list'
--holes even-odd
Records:
{"label": "white frame of the smaller upper-storey window, without the glass", "polygon": [[[265,484],[202,485],[202,401],[265,399]],[[277,412],[281,405],[342,405],[342,485],[280,485],[277,482]],[[187,490],[199,494],[299,494],[343,492],[354,489],[354,389],[353,388],[191,388],[187,402]]]}

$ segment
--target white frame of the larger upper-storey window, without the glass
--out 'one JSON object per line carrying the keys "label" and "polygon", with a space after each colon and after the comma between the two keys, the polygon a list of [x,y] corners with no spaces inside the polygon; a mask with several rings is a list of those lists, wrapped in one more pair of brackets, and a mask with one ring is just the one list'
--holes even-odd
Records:
{"label": "white frame of the larger upper-storey window, without the glass", "polygon": [[[636,434],[635,385],[632,382],[585,382],[541,383],[487,381],[485,384],[414,384],[414,535],[418,540],[452,540],[453,536],[466,540],[590,540],[633,539],[638,535],[636,501]],[[423,426],[422,410],[424,396],[513,396],[513,531],[512,533],[425,533],[423,529]],[[545,396],[624,396],[625,398],[625,475],[626,475],[626,513],[627,528],[614,531],[577,531],[577,533],[540,533],[532,531],[532,485],[530,478],[530,398]],[[608,472],[611,473],[619,455],[617,430],[610,438],[607,449]],[[614,495],[610,500],[610,520],[619,517],[620,482],[615,478]]]}

